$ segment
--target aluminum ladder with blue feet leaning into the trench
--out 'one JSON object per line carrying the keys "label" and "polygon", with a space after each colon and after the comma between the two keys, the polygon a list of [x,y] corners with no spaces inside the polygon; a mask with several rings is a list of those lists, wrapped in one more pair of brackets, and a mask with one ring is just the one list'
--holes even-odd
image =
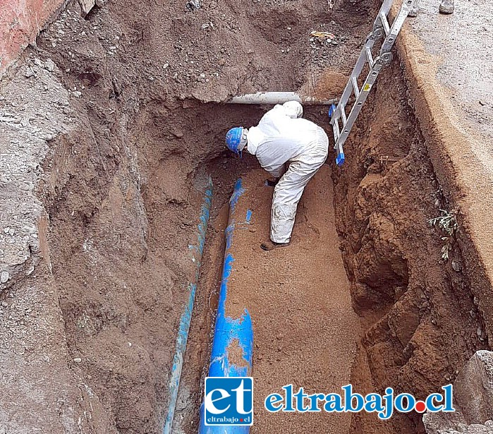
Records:
{"label": "aluminum ladder with blue feet leaning into the trench", "polygon": [[[415,0],[403,0],[401,11],[399,11],[398,16],[396,16],[394,23],[389,25],[387,17],[389,16],[393,0],[384,0],[378,16],[375,19],[375,23],[373,23],[373,30],[366,38],[365,45],[356,61],[353,72],[351,72],[348,84],[346,84],[346,88],[344,88],[342,96],[339,99],[339,104],[337,104],[337,107],[332,104],[329,109],[330,123],[332,130],[334,131],[336,164],[338,166],[341,166],[344,162],[344,142],[346,142],[346,138],[348,138],[351,128],[353,128],[354,122],[358,117],[358,114],[360,114],[361,107],[363,107],[363,103],[366,101],[368,93],[372,89],[372,85],[375,83],[375,80],[377,80],[382,66],[387,66],[392,61],[391,49],[394,46],[394,42],[396,42],[398,33],[401,31],[404,20],[406,20],[408,13],[414,6],[414,2]],[[385,39],[382,42],[379,54],[374,59],[372,47],[375,42],[382,37],[385,37]],[[358,88],[358,78],[360,77],[365,64],[368,64],[370,71],[365,79],[365,83],[363,83],[363,86],[360,89]],[[349,116],[346,116],[346,106],[353,93],[355,95],[355,102]],[[339,121],[342,123],[342,128],[339,126]]]}

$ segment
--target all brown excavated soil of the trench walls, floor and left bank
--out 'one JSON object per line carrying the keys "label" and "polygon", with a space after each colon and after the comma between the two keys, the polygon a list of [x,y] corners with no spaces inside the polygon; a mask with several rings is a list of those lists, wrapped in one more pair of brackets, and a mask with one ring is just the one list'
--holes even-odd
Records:
{"label": "all brown excavated soil of the trench walls, floor and left bank", "polygon": [[[468,236],[451,239],[445,261],[443,233],[427,223],[457,205],[449,195],[454,175],[428,155],[439,141],[425,140],[432,128],[414,111],[398,61],[380,76],[351,133],[351,158],[342,169],[331,161],[310,183],[292,246],[258,248],[271,192],[255,159],[235,159],[223,143],[228,128],[257,123],[267,108],[217,102],[258,90],[336,97],[376,5],[328,6],[228,0],[189,10],[185,1],[123,0],[82,18],[72,1],[26,50],[0,99],[2,152],[15,155],[12,164],[2,161],[1,253],[23,258],[1,260],[10,272],[1,287],[8,391],[0,396],[1,429],[162,430],[207,174],[216,194],[177,432],[196,430],[225,204],[237,176],[257,186],[248,199],[258,229],[245,232],[238,252],[245,279],[257,283],[238,287],[255,318],[256,399],[289,382],[330,392],[350,380],[363,392],[393,386],[424,397],[489,347],[473,265],[464,260],[473,249]],[[336,44],[310,41],[311,30],[334,32]],[[326,109],[307,114],[328,128]],[[11,146],[18,143],[25,146]],[[293,432],[423,430],[417,414],[381,426],[347,415],[281,420],[262,414],[260,402],[256,409],[254,430],[262,433],[279,432],[281,423]]]}

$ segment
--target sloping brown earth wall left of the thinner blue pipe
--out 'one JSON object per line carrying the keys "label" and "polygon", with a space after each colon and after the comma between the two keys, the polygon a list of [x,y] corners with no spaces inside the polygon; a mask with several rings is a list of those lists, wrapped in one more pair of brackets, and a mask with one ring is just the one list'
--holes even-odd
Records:
{"label": "sloping brown earth wall left of the thinner blue pipe", "polygon": [[[195,105],[152,104],[129,145],[102,147],[102,140],[77,135],[57,141],[47,162],[51,174],[60,174],[44,197],[52,272],[69,352],[83,360],[71,364],[118,432],[157,432],[167,411],[185,283],[193,274],[188,246],[207,176],[201,166],[214,159],[207,146],[231,119],[228,107]],[[250,121],[252,110],[245,113],[238,110],[236,121]],[[181,125],[191,128],[183,137]],[[209,139],[201,143],[204,156],[190,162],[186,143],[197,131]],[[166,146],[139,145],[144,137]],[[231,160],[238,171],[240,162]]]}

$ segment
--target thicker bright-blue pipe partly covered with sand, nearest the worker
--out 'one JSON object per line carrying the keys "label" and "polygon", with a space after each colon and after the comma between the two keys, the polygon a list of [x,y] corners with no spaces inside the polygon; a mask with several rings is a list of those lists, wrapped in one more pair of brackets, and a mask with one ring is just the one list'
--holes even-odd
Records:
{"label": "thicker bright-blue pipe partly covered with sand, nearest the worker", "polygon": [[[231,318],[226,315],[228,282],[234,272],[232,246],[234,243],[236,217],[238,217],[236,216],[236,204],[244,192],[242,180],[238,179],[233,195],[229,200],[229,221],[228,227],[224,231],[226,250],[224,252],[214,337],[212,339],[209,377],[250,377],[252,373],[253,329],[250,313],[245,308],[240,318]],[[250,220],[251,216],[252,211],[248,210],[243,221]],[[229,359],[228,349],[232,345],[239,346],[243,351],[243,360],[240,364]],[[249,426],[206,426],[204,423],[204,406],[202,404],[200,409],[200,434],[248,434],[249,432]]]}

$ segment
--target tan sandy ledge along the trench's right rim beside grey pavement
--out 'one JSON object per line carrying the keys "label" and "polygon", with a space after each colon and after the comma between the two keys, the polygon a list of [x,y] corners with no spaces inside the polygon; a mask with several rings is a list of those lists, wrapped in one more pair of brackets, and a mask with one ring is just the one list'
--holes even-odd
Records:
{"label": "tan sandy ledge along the trench's right rim beside grey pavement", "polygon": [[423,140],[437,180],[452,206],[461,209],[458,234],[465,268],[485,318],[488,339],[493,336],[493,272],[491,219],[493,190],[489,162],[476,155],[476,148],[490,140],[474,125],[458,119],[451,92],[437,82],[439,59],[425,52],[422,42],[408,29],[398,42],[406,65],[409,97],[418,114]]}

